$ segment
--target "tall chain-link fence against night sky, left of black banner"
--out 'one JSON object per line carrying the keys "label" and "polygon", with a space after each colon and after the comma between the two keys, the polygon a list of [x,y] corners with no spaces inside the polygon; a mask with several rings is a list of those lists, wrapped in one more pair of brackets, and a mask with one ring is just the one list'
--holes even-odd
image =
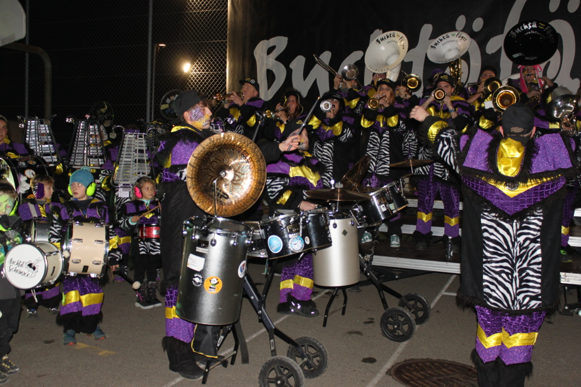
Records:
{"label": "tall chain-link fence against night sky, left of black banner", "polygon": [[[96,0],[74,6],[28,1],[28,44],[51,58],[52,113],[58,115],[52,127],[65,146],[74,129],[65,117],[83,117],[100,101],[112,106],[114,124],[146,119],[149,44],[166,44],[157,52],[152,80],[155,119],[167,121],[159,107],[172,89],[224,92],[228,0],[153,0],[151,41],[146,0]],[[27,0],[20,2],[26,9]],[[28,116],[42,117],[44,63],[38,55],[28,55]],[[24,116],[25,58],[24,52],[0,48],[0,114],[8,119]],[[188,73],[182,70],[183,62],[192,65]]]}

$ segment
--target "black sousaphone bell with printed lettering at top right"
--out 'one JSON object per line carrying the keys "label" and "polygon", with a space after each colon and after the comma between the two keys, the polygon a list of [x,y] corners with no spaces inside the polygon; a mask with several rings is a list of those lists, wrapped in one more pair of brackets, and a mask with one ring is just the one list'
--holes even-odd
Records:
{"label": "black sousaphone bell with printed lettering at top right", "polygon": [[504,52],[508,59],[522,66],[534,66],[551,59],[559,37],[555,28],[540,20],[520,22],[504,37]]}

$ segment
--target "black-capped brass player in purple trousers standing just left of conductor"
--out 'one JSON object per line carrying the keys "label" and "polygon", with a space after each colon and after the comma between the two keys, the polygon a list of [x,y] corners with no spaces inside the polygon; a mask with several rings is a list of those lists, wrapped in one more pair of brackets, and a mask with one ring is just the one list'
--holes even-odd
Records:
{"label": "black-capped brass player in purple trousers standing just left of conductor", "polygon": [[[446,93],[442,105],[432,95],[420,101],[421,106],[432,116],[438,116],[447,124],[453,124],[458,130],[467,127],[472,115],[471,105],[464,98],[454,94],[454,78],[449,74],[437,74],[436,87]],[[421,136],[419,137],[421,139]],[[421,142],[418,146],[418,159],[432,159],[431,145]],[[436,160],[414,169],[418,189],[418,217],[414,238],[417,250],[428,248],[432,238],[432,211],[436,195],[440,192],[444,203],[444,239],[452,242],[454,252],[460,250],[460,190],[456,175],[445,164]]]}

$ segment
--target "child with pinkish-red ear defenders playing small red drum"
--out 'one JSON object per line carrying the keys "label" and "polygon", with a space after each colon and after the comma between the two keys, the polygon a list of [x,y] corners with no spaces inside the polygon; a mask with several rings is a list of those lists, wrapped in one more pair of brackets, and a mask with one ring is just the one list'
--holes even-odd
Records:
{"label": "child with pinkish-red ear defenders playing small red drum", "polygon": [[[137,226],[139,257],[135,261],[135,280],[133,288],[137,291],[135,306],[142,309],[163,306],[156,297],[157,273],[161,263],[161,246],[159,243],[160,208],[155,199],[155,181],[149,177],[140,177],[134,184],[131,193],[132,202],[125,203],[119,214],[119,224],[125,231],[132,231]],[[144,282],[147,275],[147,282]]]}

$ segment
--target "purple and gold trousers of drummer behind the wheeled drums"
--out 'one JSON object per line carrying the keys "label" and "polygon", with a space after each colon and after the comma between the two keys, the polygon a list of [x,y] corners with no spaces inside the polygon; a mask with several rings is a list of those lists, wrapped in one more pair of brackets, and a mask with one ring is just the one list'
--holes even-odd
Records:
{"label": "purple and gold trousers of drummer behind the wheeled drums", "polygon": [[[309,279],[311,281],[308,281]],[[310,287],[300,285],[300,282],[303,284],[309,282]],[[311,299],[311,293],[313,293],[313,255],[305,254],[301,260],[282,268],[280,302],[286,302],[289,294],[297,300],[307,301]]]}

